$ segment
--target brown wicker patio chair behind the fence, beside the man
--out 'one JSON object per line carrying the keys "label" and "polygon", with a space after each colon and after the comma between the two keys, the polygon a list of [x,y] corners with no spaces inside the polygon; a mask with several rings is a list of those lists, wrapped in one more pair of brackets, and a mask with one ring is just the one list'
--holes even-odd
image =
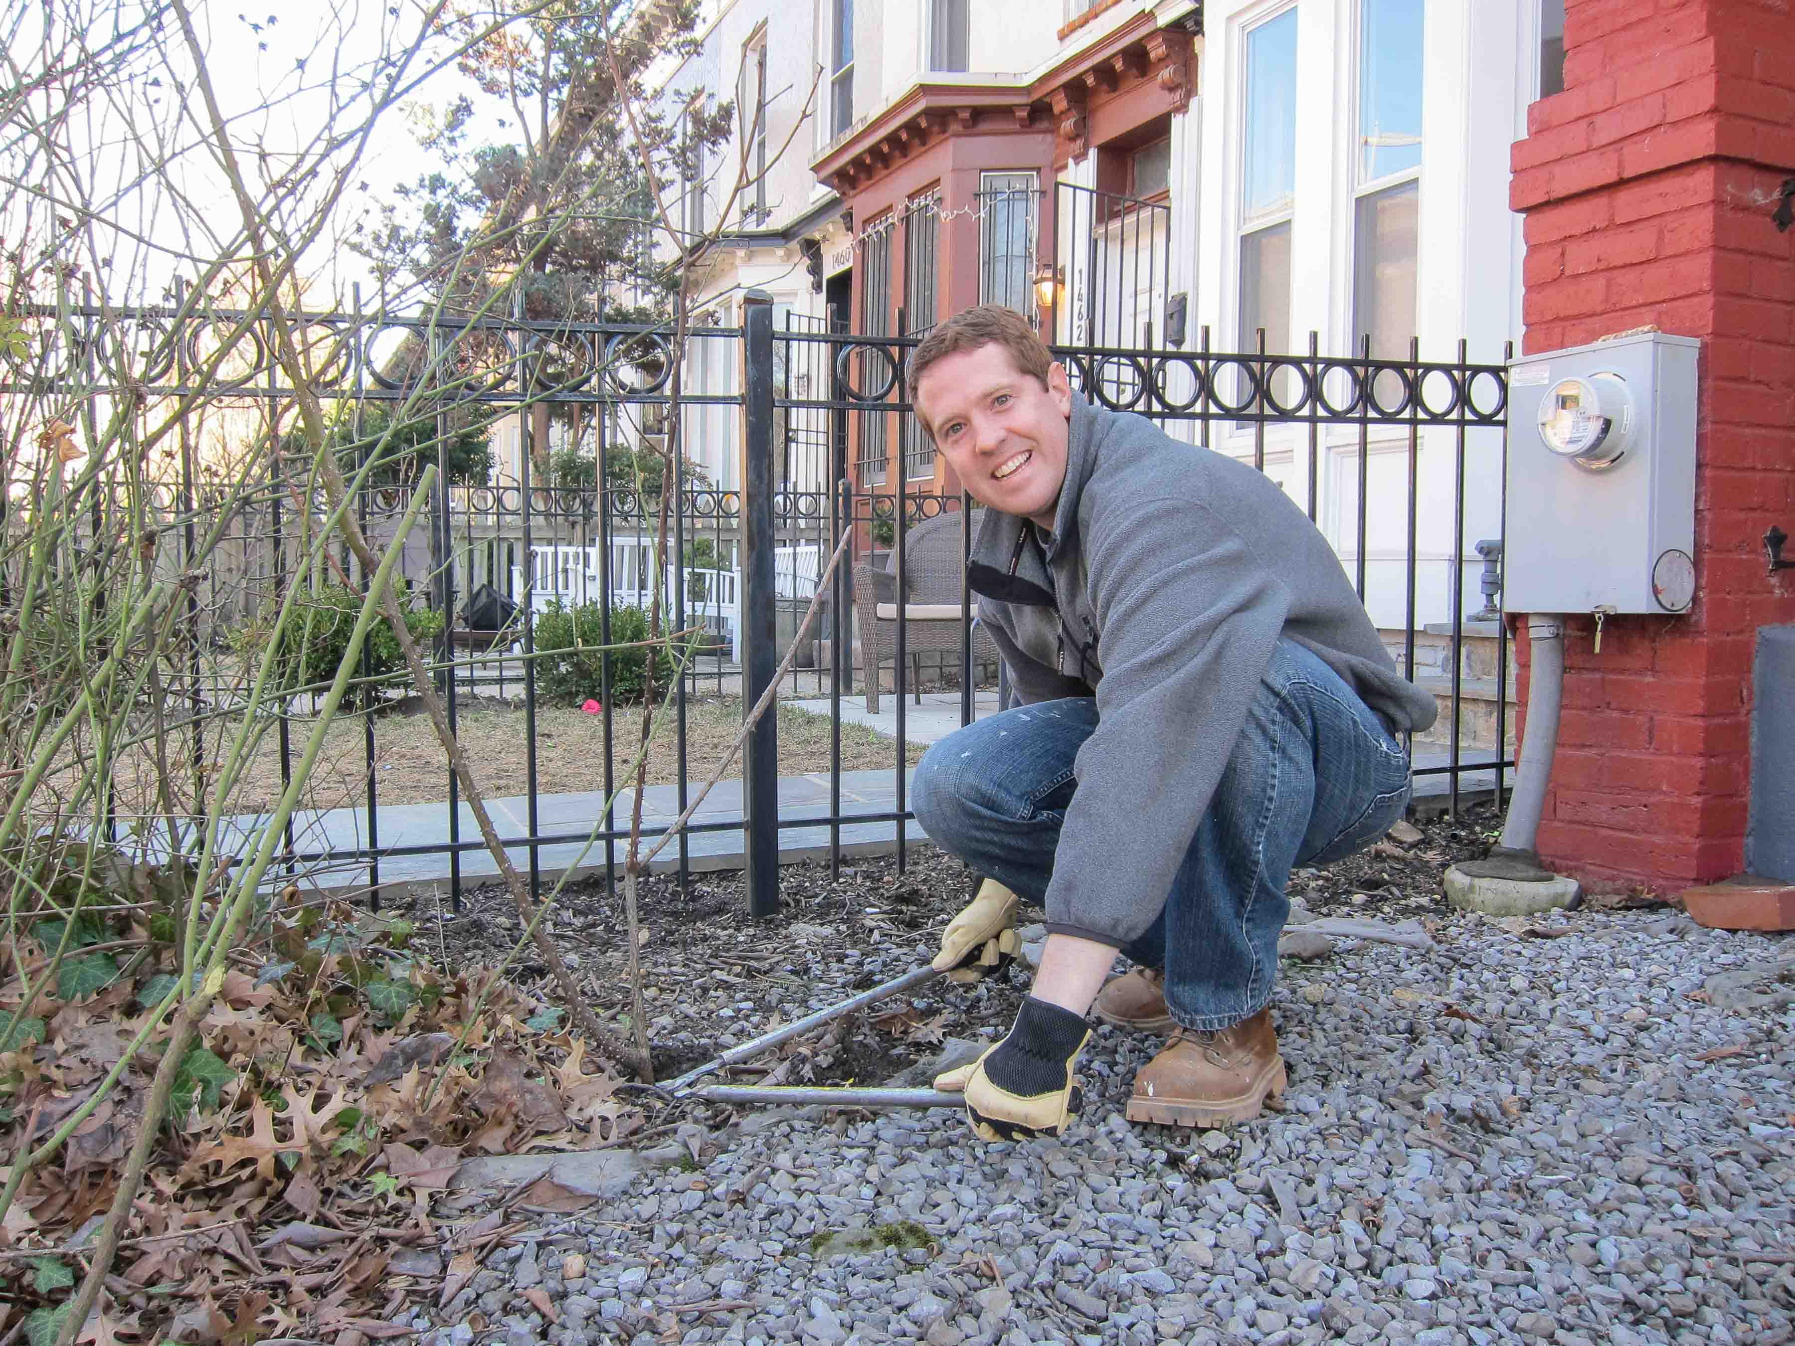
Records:
{"label": "brown wicker patio chair behind the fence, beside the man", "polygon": [[[973,511],[978,531],[982,510]],[[966,610],[960,605],[960,515],[942,513],[905,529],[905,653],[910,686],[923,704],[923,655],[960,655]],[[867,712],[880,712],[880,668],[898,659],[898,553],[883,567],[854,567],[854,616],[860,619],[860,671],[867,689]],[[973,623],[973,666],[996,666],[998,650]]]}

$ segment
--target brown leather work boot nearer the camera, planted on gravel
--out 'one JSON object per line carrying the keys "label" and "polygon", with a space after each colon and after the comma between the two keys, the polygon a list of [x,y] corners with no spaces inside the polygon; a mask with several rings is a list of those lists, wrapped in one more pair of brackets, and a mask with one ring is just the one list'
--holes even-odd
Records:
{"label": "brown leather work boot nearer the camera, planted on gravel", "polygon": [[1134,1075],[1129,1122],[1172,1127],[1221,1127],[1249,1122],[1265,1098],[1282,1098],[1285,1086],[1278,1034],[1271,1010],[1221,1032],[1179,1028],[1152,1061]]}

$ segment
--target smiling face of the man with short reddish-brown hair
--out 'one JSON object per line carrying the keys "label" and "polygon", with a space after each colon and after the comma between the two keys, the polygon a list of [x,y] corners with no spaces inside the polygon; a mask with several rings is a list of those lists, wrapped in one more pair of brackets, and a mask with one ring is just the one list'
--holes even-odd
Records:
{"label": "smiling face of the man with short reddish-brown hair", "polygon": [[915,411],[975,501],[1054,526],[1072,431],[1063,366],[1043,388],[998,343],[944,355],[923,371]]}

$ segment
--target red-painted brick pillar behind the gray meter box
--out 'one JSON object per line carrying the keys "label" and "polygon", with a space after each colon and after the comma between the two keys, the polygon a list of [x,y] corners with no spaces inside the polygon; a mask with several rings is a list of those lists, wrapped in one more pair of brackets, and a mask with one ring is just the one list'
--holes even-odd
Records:
{"label": "red-painted brick pillar behind the gray meter box", "polygon": [[1795,533],[1795,230],[1772,223],[1791,174],[1795,0],[1569,0],[1565,92],[1513,147],[1526,350],[1646,325],[1703,343],[1694,607],[1610,617],[1601,653],[1590,619],[1565,632],[1538,849],[1578,878],[1743,869],[1756,634],[1795,621],[1763,544]]}

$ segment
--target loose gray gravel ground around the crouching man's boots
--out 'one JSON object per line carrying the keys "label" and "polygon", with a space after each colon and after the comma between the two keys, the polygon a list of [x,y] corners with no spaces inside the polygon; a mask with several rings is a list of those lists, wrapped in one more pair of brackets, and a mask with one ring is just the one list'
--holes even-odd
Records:
{"label": "loose gray gravel ground around the crouching man's boots", "polygon": [[[1664,906],[1454,913],[1422,881],[1483,843],[1477,822],[1441,822],[1300,876],[1318,913],[1420,917],[1436,944],[1285,960],[1280,1114],[1129,1125],[1160,1041],[1113,1028],[1086,1048],[1088,1100],[1057,1141],[980,1145],[957,1113],[670,1111],[693,1158],[538,1219],[415,1324],[442,1346],[1790,1341],[1795,1010],[1775,971],[1770,994],[1729,982],[1795,957],[1795,939]],[[655,899],[668,944],[734,978],[716,994],[655,973],[657,1055],[704,1059],[914,966],[968,879],[928,858],[905,879],[863,865],[786,887],[774,930],[718,919],[723,883],[686,897],[722,903],[709,921],[670,922]],[[591,915],[610,919],[598,897]],[[772,1068],[885,1079],[942,1032],[1000,1036],[1023,989],[1014,973],[944,989]],[[842,1229],[874,1237],[819,1249]]]}

